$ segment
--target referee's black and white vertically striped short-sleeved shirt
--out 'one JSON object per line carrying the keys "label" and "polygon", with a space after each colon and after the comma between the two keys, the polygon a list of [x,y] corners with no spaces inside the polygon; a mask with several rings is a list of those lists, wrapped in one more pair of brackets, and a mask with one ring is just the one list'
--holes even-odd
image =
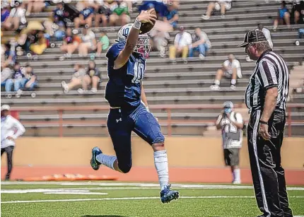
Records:
{"label": "referee's black and white vertically striped short-sleeved shirt", "polygon": [[250,110],[262,110],[268,88],[278,88],[276,108],[286,110],[289,73],[283,58],[271,49],[257,60],[245,92],[245,103]]}

